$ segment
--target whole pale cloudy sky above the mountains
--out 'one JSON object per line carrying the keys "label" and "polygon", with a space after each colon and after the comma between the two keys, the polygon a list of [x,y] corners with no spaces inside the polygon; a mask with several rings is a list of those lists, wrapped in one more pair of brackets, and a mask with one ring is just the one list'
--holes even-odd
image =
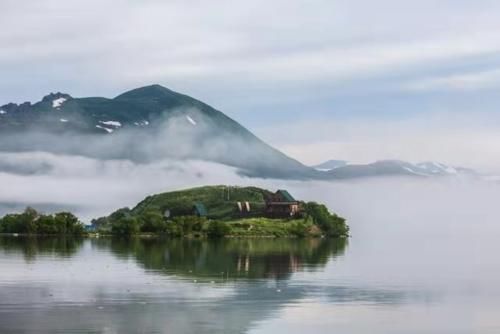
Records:
{"label": "whole pale cloudy sky above the mountains", "polygon": [[2,0],[0,104],[158,83],[306,164],[500,171],[500,3]]}

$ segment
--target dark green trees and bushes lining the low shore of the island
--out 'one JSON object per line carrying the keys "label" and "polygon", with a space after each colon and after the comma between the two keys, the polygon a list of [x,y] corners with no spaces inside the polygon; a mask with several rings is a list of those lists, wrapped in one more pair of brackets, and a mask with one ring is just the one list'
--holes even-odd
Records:
{"label": "dark green trees and bushes lining the low shore of the island", "polygon": [[[316,202],[302,203],[302,209],[303,219],[290,225],[291,236],[310,236],[311,223],[328,237],[349,235],[345,219],[331,214],[325,205]],[[152,233],[171,237],[193,235],[220,238],[230,235],[232,231],[231,224],[224,221],[198,216],[166,218],[158,211],[134,215],[128,208],[119,209],[108,217],[94,219],[92,226],[98,232],[123,236]],[[22,213],[7,214],[0,218],[0,233],[78,235],[84,232],[84,224],[70,212],[42,214],[28,207]]]}

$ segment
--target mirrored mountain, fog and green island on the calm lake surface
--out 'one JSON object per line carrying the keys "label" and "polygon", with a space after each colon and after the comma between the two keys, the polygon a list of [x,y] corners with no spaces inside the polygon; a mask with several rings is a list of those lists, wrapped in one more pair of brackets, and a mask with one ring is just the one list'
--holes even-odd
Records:
{"label": "mirrored mountain, fog and green island on the calm lake surface", "polygon": [[311,299],[401,301],[317,279],[345,248],[323,239],[0,238],[10,273],[0,274],[0,332],[244,333]]}

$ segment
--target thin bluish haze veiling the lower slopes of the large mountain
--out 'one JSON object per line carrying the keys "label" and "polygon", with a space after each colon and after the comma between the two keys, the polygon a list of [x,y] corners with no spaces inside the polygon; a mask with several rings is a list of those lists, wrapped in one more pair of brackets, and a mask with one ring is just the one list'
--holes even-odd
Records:
{"label": "thin bluish haze veiling the lower slopes of the large mountain", "polygon": [[[82,120],[81,115],[68,111],[64,115],[69,121],[61,125],[60,114],[47,113],[27,129],[11,131],[7,127],[0,135],[0,152],[40,151],[143,164],[163,159],[195,159],[238,167],[241,174],[263,177],[301,178],[311,173],[209,107],[174,108],[161,114],[147,116],[147,121],[140,121],[142,124],[136,121],[132,125],[129,120],[119,129],[107,129],[114,131],[112,134],[96,134],[92,133],[94,125],[88,124],[95,120]],[[47,161],[32,161],[28,156],[22,156],[23,163],[14,167],[11,159],[12,156],[4,156],[0,160],[0,171],[37,174],[53,168]],[[80,170],[78,163],[71,164]]]}

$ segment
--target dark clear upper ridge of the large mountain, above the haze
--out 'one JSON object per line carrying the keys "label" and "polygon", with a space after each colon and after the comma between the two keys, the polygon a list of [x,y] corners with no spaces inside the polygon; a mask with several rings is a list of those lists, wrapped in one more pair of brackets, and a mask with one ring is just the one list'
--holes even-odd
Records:
{"label": "dark clear upper ridge of the large mountain, above the haze", "polygon": [[[249,135],[246,129],[220,111],[160,85],[137,88],[113,99],[73,98],[69,94],[51,93],[34,104],[9,103],[0,106],[0,131],[111,134],[126,128],[155,128],[161,125],[159,120],[176,116],[183,109],[198,111],[206,117],[205,121],[210,120],[223,130]],[[187,112],[185,120],[197,125]]]}

